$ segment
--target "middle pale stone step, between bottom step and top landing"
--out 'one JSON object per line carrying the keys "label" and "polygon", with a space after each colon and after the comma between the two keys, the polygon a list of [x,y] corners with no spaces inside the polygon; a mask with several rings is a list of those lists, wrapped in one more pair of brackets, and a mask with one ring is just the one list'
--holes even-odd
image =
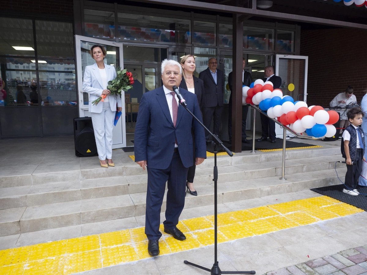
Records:
{"label": "middle pale stone step, between bottom step and top landing", "polygon": [[[286,160],[285,174],[332,169],[339,159],[339,156],[332,155]],[[337,163],[337,167],[345,167],[345,164]],[[279,160],[261,164],[242,163],[218,167],[219,181],[225,180],[226,182],[281,176],[281,174],[281,161]],[[196,169],[195,187],[212,184],[212,179],[213,167],[199,166]],[[0,209],[142,193],[146,191],[146,188],[146,173],[127,177],[106,177],[0,188]]]}

